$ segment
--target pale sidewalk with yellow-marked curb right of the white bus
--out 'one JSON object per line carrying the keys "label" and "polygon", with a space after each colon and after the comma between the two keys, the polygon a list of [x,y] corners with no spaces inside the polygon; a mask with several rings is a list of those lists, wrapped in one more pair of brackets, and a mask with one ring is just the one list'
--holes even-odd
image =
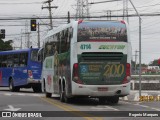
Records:
{"label": "pale sidewalk with yellow-marked curb right of the white bus", "polygon": [[[160,90],[141,90],[141,96],[160,96]],[[139,101],[139,90],[131,90],[130,95],[121,97],[120,100],[125,101]],[[160,97],[159,97],[160,100]]]}

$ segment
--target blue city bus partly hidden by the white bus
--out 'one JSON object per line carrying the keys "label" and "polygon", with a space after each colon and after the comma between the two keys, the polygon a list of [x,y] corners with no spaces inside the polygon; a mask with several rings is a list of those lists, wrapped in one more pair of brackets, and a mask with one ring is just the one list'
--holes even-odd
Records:
{"label": "blue city bus partly hidden by the white bus", "polygon": [[38,61],[38,48],[0,52],[0,86],[17,92],[20,88],[33,88],[41,92],[42,64]]}

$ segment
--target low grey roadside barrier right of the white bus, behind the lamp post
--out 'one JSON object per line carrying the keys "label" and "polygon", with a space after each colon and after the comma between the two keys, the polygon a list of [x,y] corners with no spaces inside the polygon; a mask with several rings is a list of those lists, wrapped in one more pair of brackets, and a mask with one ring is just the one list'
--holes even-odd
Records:
{"label": "low grey roadside barrier right of the white bus, behind the lamp post", "polygon": [[[160,90],[160,75],[141,75],[142,90]],[[131,90],[139,90],[139,75],[131,76]]]}

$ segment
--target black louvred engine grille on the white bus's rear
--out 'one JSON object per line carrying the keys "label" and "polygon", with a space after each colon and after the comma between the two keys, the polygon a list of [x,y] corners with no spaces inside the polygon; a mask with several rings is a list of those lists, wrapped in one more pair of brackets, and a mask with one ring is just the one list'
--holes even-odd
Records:
{"label": "black louvred engine grille on the white bus's rear", "polygon": [[85,52],[81,54],[80,61],[121,61],[122,58],[121,52]]}

